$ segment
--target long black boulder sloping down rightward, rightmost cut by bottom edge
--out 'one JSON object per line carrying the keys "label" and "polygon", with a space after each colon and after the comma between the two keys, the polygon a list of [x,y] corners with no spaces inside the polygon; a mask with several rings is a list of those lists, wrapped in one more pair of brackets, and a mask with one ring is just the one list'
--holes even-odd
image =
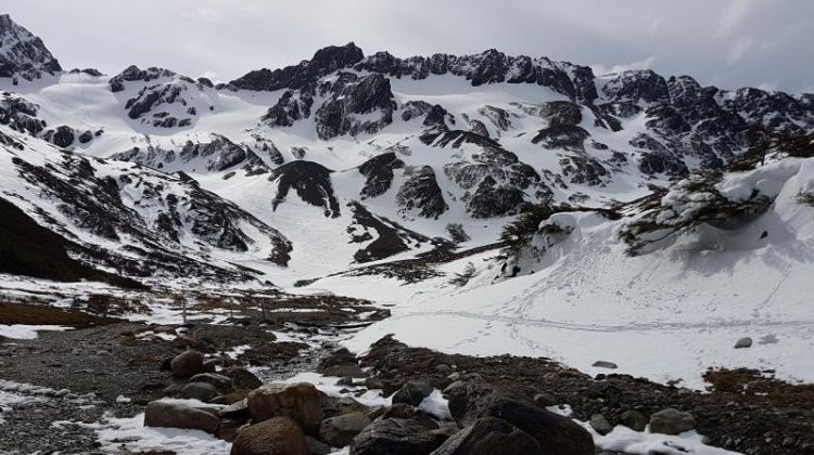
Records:
{"label": "long black boulder sloping down rightward, rightmost cut by bottom edge", "polygon": [[472,382],[450,386],[444,393],[449,401],[453,418],[461,427],[483,417],[497,417],[532,435],[544,453],[594,454],[594,439],[586,429],[531,402],[508,396],[487,385]]}

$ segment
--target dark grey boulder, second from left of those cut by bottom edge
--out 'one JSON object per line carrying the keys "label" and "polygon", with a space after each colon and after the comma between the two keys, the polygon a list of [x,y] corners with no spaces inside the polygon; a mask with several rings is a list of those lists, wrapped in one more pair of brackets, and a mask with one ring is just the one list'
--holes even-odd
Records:
{"label": "dark grey boulder, second from left of those cut by bottom edge", "polygon": [[382,418],[354,438],[351,455],[428,455],[446,439],[414,419]]}

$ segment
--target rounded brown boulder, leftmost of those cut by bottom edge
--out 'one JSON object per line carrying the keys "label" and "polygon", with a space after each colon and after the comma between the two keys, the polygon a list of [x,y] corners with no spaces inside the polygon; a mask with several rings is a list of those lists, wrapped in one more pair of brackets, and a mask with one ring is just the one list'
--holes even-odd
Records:
{"label": "rounded brown boulder, leftmost of those cut by bottom edge", "polygon": [[275,417],[238,432],[231,455],[309,455],[305,434],[288,417]]}

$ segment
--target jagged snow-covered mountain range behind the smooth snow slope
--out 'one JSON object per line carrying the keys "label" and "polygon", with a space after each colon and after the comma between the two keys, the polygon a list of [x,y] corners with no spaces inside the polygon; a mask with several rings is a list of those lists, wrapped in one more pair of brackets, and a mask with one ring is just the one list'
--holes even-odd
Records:
{"label": "jagged snow-covered mountain range behind the smooth snow slope", "polygon": [[[595,75],[496,50],[399,58],[348,43],[218,84],[155,67],[65,73],[39,39],[8,16],[0,24],[0,122],[23,146],[4,146],[16,154],[5,198],[98,248],[186,238],[189,255],[228,251],[275,283],[491,244],[529,203],[615,206],[814,129],[811,94],[720,90],[651,70]],[[29,81],[33,72],[40,79]],[[96,185],[119,194],[119,211],[105,202],[104,216],[87,214],[55,196],[46,173],[107,179]],[[16,190],[23,181],[31,194]],[[178,212],[185,205],[194,213]],[[127,233],[132,210],[138,235]],[[203,232],[209,223],[218,227]],[[365,252],[373,244],[378,252]]]}

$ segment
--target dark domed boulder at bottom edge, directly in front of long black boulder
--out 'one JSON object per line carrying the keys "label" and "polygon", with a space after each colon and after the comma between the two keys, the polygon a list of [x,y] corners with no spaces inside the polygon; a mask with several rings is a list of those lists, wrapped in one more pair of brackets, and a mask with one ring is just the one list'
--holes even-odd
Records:
{"label": "dark domed boulder at bottom edge, directly in front of long black boulder", "polygon": [[495,417],[484,417],[446,440],[432,455],[544,455],[525,431]]}

